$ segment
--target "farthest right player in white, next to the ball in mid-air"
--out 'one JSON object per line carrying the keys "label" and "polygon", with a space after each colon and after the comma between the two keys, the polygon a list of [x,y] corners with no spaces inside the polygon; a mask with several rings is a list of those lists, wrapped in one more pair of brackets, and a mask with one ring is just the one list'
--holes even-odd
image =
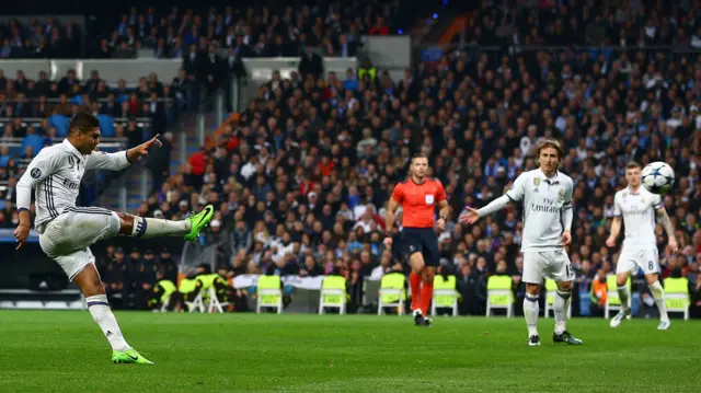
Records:
{"label": "farthest right player in white, next to the ball in mid-air", "polygon": [[628,305],[628,299],[631,294],[627,282],[631,273],[637,273],[640,267],[645,273],[650,291],[659,310],[659,326],[657,328],[666,331],[670,323],[667,315],[667,304],[665,304],[665,290],[657,279],[659,264],[655,236],[655,213],[657,213],[657,218],[669,238],[668,251],[676,253],[678,245],[675,239],[675,229],[662,205],[662,197],[641,187],[641,169],[642,166],[636,162],[625,165],[628,187],[616,193],[613,197],[613,223],[611,223],[611,234],[606,240],[606,245],[616,246],[616,239],[621,233],[621,221],[625,224],[625,240],[616,265],[616,284],[621,300],[621,311],[611,320],[611,327],[620,326],[623,319],[631,316],[631,310]]}

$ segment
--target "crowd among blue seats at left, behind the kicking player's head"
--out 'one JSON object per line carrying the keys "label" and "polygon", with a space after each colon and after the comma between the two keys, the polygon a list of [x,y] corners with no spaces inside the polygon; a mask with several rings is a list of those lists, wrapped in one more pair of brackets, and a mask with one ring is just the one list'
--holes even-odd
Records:
{"label": "crowd among blue seats at left, behind the kicking player's head", "polygon": [[[0,206],[7,210],[0,226],[11,223],[14,184],[22,169],[46,146],[68,132],[68,122],[77,111],[90,108],[97,116],[103,138],[123,138],[127,147],[163,134],[168,124],[192,106],[196,81],[184,72],[170,84],[152,72],[137,86],[120,80],[108,85],[97,71],[80,80],[69,70],[58,80],[42,71],[36,79],[18,71],[7,76],[0,69]],[[149,158],[149,167],[168,167],[163,154]],[[94,204],[97,188],[107,186],[114,174],[89,174],[82,184],[81,203]],[[16,213],[14,213],[16,216]],[[4,219],[4,221],[3,221]]]}

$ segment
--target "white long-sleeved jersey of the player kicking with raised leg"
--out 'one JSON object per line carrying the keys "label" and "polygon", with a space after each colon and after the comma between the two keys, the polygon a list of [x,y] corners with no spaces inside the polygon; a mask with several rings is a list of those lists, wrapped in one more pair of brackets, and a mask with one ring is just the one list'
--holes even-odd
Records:
{"label": "white long-sleeved jersey of the player kicking with raised leg", "polygon": [[36,218],[39,227],[76,207],[80,181],[85,170],[118,171],[129,165],[126,151],[81,154],[68,139],[42,149],[18,182],[18,210],[28,209],[35,192]]}

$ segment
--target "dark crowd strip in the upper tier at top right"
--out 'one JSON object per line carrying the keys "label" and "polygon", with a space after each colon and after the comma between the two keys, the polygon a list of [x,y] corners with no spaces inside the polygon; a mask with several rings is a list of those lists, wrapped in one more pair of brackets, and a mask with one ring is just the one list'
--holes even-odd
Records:
{"label": "dark crowd strip in the upper tier at top right", "polygon": [[522,0],[479,4],[469,11],[464,39],[483,46],[701,47],[698,1]]}

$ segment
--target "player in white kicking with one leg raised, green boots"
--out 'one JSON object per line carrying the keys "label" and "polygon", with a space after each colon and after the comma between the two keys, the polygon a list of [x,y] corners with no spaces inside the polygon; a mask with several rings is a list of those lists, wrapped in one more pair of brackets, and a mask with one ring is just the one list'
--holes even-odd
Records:
{"label": "player in white kicking with one leg raised, green boots", "polygon": [[20,223],[14,230],[18,250],[30,234],[32,189],[36,196],[34,227],[39,233],[39,245],[76,282],[88,303],[90,314],[112,345],[115,363],[152,362],[127,344],[119,325],[110,310],[105,289],[95,268],[95,257],[89,246],[99,240],[127,235],[154,238],[185,236],[195,240],[211,219],[214,208],[207,206],[184,221],[168,221],[114,212],[99,207],[76,207],[80,181],[85,170],[127,167],[148,154],[152,145],[161,146],[158,136],[133,149],[116,153],[94,151],[100,143],[100,124],[92,114],[80,112],[69,124],[69,135],[62,143],[42,149],[32,160],[18,183]]}

